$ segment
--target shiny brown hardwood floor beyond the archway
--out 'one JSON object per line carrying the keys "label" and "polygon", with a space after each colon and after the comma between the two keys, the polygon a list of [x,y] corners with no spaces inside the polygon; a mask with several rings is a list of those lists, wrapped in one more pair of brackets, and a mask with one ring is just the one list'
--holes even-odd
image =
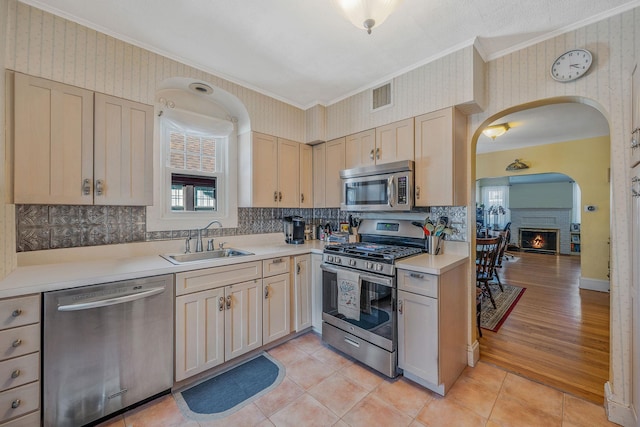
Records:
{"label": "shiny brown hardwood floor beyond the archway", "polygon": [[514,252],[502,283],[527,288],[480,360],[602,404],[609,376],[609,294],[579,289],[580,258]]}

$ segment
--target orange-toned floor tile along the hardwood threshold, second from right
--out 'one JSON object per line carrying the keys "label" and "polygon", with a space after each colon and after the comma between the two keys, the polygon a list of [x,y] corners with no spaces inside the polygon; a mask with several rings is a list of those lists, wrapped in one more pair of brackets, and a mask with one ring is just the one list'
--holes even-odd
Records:
{"label": "orange-toned floor tile along the hardwood threshold, second from right", "polygon": [[507,374],[490,419],[503,426],[560,426],[562,403],[561,392]]}

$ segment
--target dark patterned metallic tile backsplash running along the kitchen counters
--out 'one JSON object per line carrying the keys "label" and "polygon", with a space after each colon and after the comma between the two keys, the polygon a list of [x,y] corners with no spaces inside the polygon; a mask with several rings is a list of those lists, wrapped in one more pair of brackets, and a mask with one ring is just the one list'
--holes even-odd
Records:
{"label": "dark patterned metallic tile backsplash running along the kitchen counters", "polygon": [[[237,228],[209,229],[203,237],[278,233],[283,230],[282,218],[293,215],[309,224],[329,223],[337,230],[340,222],[347,221],[349,212],[332,208],[238,208]],[[425,217],[424,213],[415,215]],[[451,240],[466,240],[466,207],[432,207],[426,215],[434,220],[448,216],[454,228]],[[16,227],[16,252],[195,237],[195,230],[147,232],[144,206],[17,205]]]}

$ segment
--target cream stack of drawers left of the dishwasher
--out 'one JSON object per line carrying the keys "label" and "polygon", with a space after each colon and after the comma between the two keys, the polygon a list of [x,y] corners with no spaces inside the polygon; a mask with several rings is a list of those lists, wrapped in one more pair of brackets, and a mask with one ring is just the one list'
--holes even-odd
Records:
{"label": "cream stack of drawers left of the dishwasher", "polygon": [[0,425],[39,425],[40,295],[0,300],[0,318]]}

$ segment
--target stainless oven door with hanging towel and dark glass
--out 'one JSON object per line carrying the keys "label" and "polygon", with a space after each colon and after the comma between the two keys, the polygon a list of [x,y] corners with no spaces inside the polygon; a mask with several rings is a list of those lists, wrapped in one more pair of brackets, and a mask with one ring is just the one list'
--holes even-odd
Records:
{"label": "stainless oven door with hanging towel and dark glass", "polygon": [[322,264],[322,320],[396,350],[395,278]]}

